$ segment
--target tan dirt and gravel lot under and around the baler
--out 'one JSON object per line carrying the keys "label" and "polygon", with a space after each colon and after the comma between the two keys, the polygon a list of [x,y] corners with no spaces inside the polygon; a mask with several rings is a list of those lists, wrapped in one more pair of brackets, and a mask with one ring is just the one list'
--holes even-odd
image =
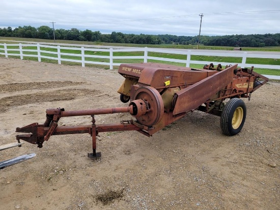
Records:
{"label": "tan dirt and gravel lot under and around the baler", "polygon": [[[47,108],[126,106],[116,92],[122,81],[116,70],[0,58],[0,145],[16,141],[16,127],[43,123]],[[37,156],[0,170],[0,208],[280,209],[279,99],[279,83],[254,92],[233,137],[221,133],[219,117],[194,111],[151,138],[101,133],[98,161],[87,158],[88,134],[1,151],[0,161]],[[97,124],[129,119],[96,116]],[[90,123],[68,117],[59,125]]]}

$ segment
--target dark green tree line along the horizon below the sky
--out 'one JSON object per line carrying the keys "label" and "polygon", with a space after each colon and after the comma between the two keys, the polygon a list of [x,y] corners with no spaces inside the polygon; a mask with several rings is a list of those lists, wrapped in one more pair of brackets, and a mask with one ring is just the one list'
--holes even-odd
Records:
{"label": "dark green tree line along the horizon below the sky", "polygon": [[[39,28],[30,25],[17,27],[0,28],[2,37],[22,37],[53,39],[53,30],[47,25]],[[78,29],[56,29],[54,30],[55,39],[75,40],[90,42],[111,42],[111,43],[134,43],[134,44],[182,44],[195,45],[198,43],[198,36],[176,36],[176,35],[146,35],[146,34],[123,34],[112,32],[111,34],[101,34],[99,31]],[[200,44],[208,46],[233,46],[233,47],[265,47],[279,46],[280,33],[277,34],[251,34],[251,35],[226,35],[226,36],[201,36]]]}

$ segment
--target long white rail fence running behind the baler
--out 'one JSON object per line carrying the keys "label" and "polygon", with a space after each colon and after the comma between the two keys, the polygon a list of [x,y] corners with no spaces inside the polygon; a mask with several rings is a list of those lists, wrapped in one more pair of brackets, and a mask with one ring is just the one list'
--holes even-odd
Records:
{"label": "long white rail fence running behind the baler", "polygon": [[[2,47],[1,47],[2,46]],[[17,49],[8,48],[7,46],[17,46]],[[37,47],[37,49],[24,49],[23,47]],[[57,49],[55,51],[46,51],[41,48],[54,48]],[[70,49],[70,50],[79,50],[80,54],[72,54],[61,52],[61,49]],[[98,56],[98,55],[85,55],[86,51],[106,51],[109,52],[109,56]],[[1,52],[4,51],[4,52]],[[9,53],[9,51],[19,51],[19,53]],[[24,52],[36,52],[36,55],[24,54]],[[144,51],[144,56],[114,56],[114,52],[133,52],[133,51]],[[171,59],[171,58],[159,58],[159,57],[151,57],[148,56],[148,52],[161,52],[165,54],[179,54],[186,55],[185,60],[180,59]],[[46,54],[54,54],[55,57],[43,56],[42,53]],[[271,53],[264,52],[263,54],[254,53],[254,52],[241,52],[241,51],[219,51],[213,52],[211,50],[208,51],[198,51],[198,50],[175,50],[175,49],[162,49],[162,48],[125,48],[125,49],[100,49],[100,48],[85,48],[85,47],[64,47],[64,46],[53,46],[53,45],[43,45],[43,44],[1,44],[0,43],[0,55],[5,55],[6,58],[8,56],[20,56],[20,59],[23,57],[37,57],[38,61],[41,62],[41,58],[45,59],[53,59],[57,60],[59,64],[61,61],[69,61],[69,62],[78,62],[81,63],[82,67],[85,67],[85,64],[99,64],[99,65],[108,65],[110,69],[113,69],[113,66],[119,66],[121,63],[114,63],[116,59],[143,59],[144,63],[147,63],[148,60],[157,60],[157,61],[167,61],[167,62],[177,62],[177,63],[185,63],[186,67],[189,67],[190,64],[208,64],[213,63],[214,65],[228,65],[228,64],[236,64],[236,63],[221,63],[221,62],[212,62],[212,61],[194,61],[191,60],[192,55],[196,56],[220,56],[220,57],[242,57],[242,62],[238,63],[238,66],[241,68],[255,66],[255,68],[266,68],[266,69],[280,69],[280,65],[262,65],[262,64],[249,64],[246,63],[247,58],[270,58],[270,59],[280,59],[279,53]],[[75,59],[66,59],[61,58],[61,56],[74,56],[79,57],[80,60]],[[98,61],[87,61],[85,58],[98,58],[98,59],[108,59],[109,62],[98,62]]]}

